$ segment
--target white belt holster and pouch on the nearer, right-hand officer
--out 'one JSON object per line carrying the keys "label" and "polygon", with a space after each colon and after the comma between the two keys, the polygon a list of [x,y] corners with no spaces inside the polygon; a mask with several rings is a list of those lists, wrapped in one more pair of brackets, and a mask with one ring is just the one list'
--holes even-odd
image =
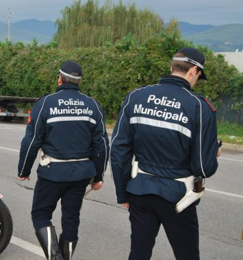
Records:
{"label": "white belt holster and pouch on the nearer, right-hand officer", "polygon": [[[131,168],[131,177],[135,178],[138,173],[142,173],[142,174],[148,174],[148,175],[154,175],[151,173],[145,173],[144,171],[142,171],[141,169],[138,168],[138,161],[133,160],[132,162],[132,168]],[[178,182],[184,182],[185,186],[186,186],[186,194],[185,196],[177,203],[175,210],[177,213],[182,212],[183,210],[186,209],[186,207],[188,207],[189,205],[191,205],[192,203],[194,203],[194,201],[197,201],[198,199],[200,199],[201,197],[203,197],[204,195],[204,190],[202,192],[194,192],[194,179],[195,176],[190,176],[190,177],[186,177],[186,178],[179,178],[179,179],[175,179],[175,181]]]}

